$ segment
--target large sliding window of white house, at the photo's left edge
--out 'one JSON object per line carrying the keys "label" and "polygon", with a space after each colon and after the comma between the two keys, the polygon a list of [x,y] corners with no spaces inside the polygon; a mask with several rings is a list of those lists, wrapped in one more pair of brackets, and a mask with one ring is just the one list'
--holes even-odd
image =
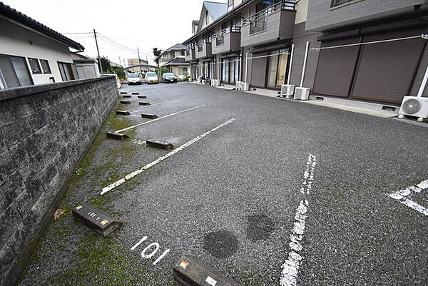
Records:
{"label": "large sliding window of white house, at the photo's left edge", "polygon": [[0,55],[0,81],[4,88],[33,85],[25,58]]}

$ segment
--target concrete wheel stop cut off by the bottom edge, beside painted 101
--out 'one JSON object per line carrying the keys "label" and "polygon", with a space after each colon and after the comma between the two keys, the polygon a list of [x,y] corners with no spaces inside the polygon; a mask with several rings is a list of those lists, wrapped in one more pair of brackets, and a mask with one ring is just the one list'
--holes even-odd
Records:
{"label": "concrete wheel stop cut off by the bottom edge, beside painted 101", "polygon": [[185,286],[243,286],[195,257],[183,256],[173,266],[173,277]]}

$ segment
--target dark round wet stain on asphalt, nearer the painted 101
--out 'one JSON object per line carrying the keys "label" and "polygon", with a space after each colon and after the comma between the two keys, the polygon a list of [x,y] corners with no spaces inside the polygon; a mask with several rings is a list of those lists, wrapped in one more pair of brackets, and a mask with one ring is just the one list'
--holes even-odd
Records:
{"label": "dark round wet stain on asphalt, nearer the painted 101", "polygon": [[203,248],[211,255],[223,259],[233,255],[238,250],[238,245],[236,235],[228,230],[218,230],[205,235]]}

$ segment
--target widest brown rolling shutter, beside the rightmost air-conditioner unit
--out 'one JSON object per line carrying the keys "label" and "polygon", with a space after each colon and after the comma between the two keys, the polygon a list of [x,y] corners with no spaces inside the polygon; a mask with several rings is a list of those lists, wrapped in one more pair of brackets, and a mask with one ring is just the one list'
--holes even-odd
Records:
{"label": "widest brown rolling shutter, beside the rightmost air-conditioner unit", "polygon": [[[418,34],[422,34],[422,29],[388,31],[365,35],[363,41]],[[401,103],[402,98],[409,95],[425,41],[419,38],[361,46],[352,98]]]}

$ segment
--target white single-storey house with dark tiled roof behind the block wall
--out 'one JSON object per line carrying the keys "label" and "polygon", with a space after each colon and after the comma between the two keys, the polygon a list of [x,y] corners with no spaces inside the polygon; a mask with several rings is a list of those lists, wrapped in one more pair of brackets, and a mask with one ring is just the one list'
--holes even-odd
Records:
{"label": "white single-storey house with dark tiled roof behind the block wall", "polygon": [[78,78],[70,48],[83,46],[0,2],[0,88]]}

